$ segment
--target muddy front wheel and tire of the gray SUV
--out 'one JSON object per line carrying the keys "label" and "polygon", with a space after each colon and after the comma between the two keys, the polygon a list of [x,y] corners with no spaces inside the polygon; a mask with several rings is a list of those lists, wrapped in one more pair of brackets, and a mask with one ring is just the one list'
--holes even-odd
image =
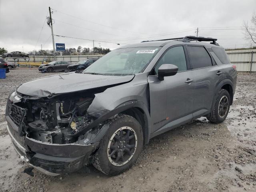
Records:
{"label": "muddy front wheel and tire of the gray SUV", "polygon": [[132,116],[120,114],[106,122],[109,129],[92,157],[93,165],[106,175],[128,170],[142,151],[143,132]]}

